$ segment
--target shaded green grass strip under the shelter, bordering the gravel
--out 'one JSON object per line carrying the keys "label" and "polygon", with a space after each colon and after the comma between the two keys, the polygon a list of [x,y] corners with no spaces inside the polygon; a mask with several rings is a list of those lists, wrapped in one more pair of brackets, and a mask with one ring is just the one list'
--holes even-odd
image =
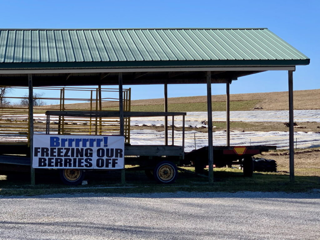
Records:
{"label": "shaded green grass strip under the shelter, bordering the gravel", "polygon": [[[192,170],[194,168],[188,168]],[[50,174],[49,174],[50,175]],[[56,193],[154,193],[154,192],[238,192],[238,191],[284,191],[284,192],[306,192],[319,188],[318,177],[296,176],[295,183],[289,182],[289,175],[286,173],[258,173],[255,172],[252,178],[243,176],[242,171],[235,168],[215,168],[214,184],[210,185],[207,178],[198,177],[190,173],[179,172],[177,181],[171,185],[157,184],[148,180],[144,172],[126,172],[127,187],[134,188],[101,188],[119,187],[120,173],[105,172],[88,176],[88,185],[67,186],[60,184],[57,174],[51,173],[43,176],[36,176],[36,186],[28,185],[28,174],[6,180],[0,177],[0,195],[45,195]],[[39,184],[41,182],[41,184]],[[90,189],[87,189],[87,188]],[[9,189],[8,189],[9,188]],[[18,189],[20,188],[20,189]]]}

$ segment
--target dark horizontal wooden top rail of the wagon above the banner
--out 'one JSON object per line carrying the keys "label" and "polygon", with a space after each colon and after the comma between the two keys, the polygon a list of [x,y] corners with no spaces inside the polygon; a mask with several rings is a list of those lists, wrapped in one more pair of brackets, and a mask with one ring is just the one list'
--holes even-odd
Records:
{"label": "dark horizontal wooden top rail of the wagon above the banner", "polygon": [[[50,116],[120,117],[120,111],[46,111]],[[124,112],[124,117],[185,116],[185,112]]]}

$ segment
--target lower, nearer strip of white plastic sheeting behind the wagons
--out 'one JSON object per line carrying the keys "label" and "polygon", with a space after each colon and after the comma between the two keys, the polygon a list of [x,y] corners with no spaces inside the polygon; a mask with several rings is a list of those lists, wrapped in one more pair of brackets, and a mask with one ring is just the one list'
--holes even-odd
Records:
{"label": "lower, nearer strip of white plastic sheeting behind the wagons", "polygon": [[[169,144],[171,144],[171,133]],[[226,145],[226,132],[213,132],[213,146]],[[196,145],[195,145],[196,139]],[[295,132],[294,141],[297,140],[297,148],[320,147],[320,133],[315,132]],[[154,130],[132,130],[130,134],[132,145],[164,145],[164,132]],[[231,145],[274,145],[278,149],[289,148],[289,132],[230,132]],[[296,144],[296,142],[295,142]],[[182,145],[182,132],[174,131],[174,145]],[[191,151],[195,147],[202,148],[208,146],[208,134],[197,131],[185,132],[185,151]]]}

